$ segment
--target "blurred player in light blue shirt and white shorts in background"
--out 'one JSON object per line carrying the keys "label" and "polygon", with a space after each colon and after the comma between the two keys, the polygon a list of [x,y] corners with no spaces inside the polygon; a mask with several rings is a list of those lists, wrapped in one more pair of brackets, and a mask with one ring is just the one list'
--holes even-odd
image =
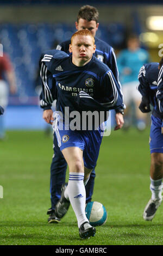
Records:
{"label": "blurred player in light blue shirt and white shorts in background", "polygon": [[120,82],[124,96],[124,129],[131,125],[131,107],[134,104],[134,118],[136,127],[139,130],[146,128],[146,117],[139,109],[141,94],[137,91],[137,76],[144,63],[149,62],[149,54],[140,48],[140,41],[137,35],[130,35],[127,39],[127,48],[122,50],[117,56],[117,65],[120,72]]}

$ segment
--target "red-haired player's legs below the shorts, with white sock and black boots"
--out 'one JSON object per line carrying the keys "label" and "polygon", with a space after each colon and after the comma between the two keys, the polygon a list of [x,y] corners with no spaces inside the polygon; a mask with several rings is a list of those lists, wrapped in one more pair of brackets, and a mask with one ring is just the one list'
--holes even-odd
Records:
{"label": "red-haired player's legs below the shorts, with white sock and black boots", "polygon": [[64,216],[65,210],[68,209],[68,201],[70,201],[77,217],[80,237],[94,236],[96,229],[89,224],[85,214],[86,193],[84,180],[86,181],[89,178],[91,170],[86,168],[84,173],[83,151],[80,148],[65,148],[62,150],[62,154],[68,164],[70,173],[68,185],[63,191],[64,196],[61,196],[62,201],[60,200],[56,207],[56,214],[60,217]]}

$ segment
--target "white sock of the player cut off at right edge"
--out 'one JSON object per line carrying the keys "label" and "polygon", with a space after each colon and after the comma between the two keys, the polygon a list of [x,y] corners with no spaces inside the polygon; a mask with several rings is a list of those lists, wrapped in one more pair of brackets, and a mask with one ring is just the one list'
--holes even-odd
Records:
{"label": "white sock of the player cut off at right edge", "polygon": [[162,179],[159,180],[153,180],[151,177],[151,184],[150,184],[150,190],[152,192],[152,199],[153,200],[160,200],[162,199]]}

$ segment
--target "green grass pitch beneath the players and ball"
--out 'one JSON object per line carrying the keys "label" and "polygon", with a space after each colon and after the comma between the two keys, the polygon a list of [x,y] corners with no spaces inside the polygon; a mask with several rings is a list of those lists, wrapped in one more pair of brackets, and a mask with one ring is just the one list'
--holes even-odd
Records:
{"label": "green grass pitch beneath the players and ball", "polygon": [[[149,191],[149,129],[112,131],[104,137],[92,200],[104,204],[107,222],[81,240],[70,206],[59,224],[48,224],[52,137],[43,131],[8,131],[0,142],[0,245],[163,245],[163,209],[142,218]],[[68,175],[67,175],[68,180]]]}

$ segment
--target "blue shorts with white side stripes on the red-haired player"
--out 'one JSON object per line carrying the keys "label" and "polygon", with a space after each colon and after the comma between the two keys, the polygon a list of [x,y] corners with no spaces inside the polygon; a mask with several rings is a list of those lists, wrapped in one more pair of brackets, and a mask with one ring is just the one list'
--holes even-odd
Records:
{"label": "blue shorts with white side stripes on the red-haired player", "polygon": [[78,147],[83,150],[84,166],[93,169],[99,155],[99,148],[103,138],[103,130],[72,131],[60,130],[57,125],[53,126],[58,146],[62,151],[65,148]]}

